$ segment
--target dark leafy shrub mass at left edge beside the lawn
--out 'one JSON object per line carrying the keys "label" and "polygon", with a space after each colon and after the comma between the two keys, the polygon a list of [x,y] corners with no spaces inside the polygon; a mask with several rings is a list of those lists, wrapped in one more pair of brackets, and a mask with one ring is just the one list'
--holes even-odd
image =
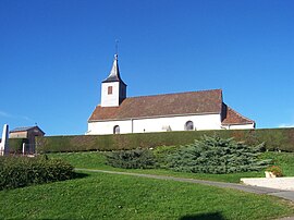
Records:
{"label": "dark leafy shrub mass at left edge beside the lawn", "polygon": [[46,156],[0,157],[0,190],[63,181],[73,176],[73,167],[59,159],[48,159]]}

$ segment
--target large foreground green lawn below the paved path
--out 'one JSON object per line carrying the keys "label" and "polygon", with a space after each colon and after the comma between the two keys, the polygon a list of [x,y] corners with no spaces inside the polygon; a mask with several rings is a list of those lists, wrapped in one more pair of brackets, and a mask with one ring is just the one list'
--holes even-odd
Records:
{"label": "large foreground green lawn below the paved path", "polygon": [[0,219],[262,220],[293,215],[293,204],[272,196],[106,173],[0,192]]}

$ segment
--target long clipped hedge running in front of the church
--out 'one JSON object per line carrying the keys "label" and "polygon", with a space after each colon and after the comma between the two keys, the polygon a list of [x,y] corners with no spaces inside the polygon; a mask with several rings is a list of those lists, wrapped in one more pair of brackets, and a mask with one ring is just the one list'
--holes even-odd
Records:
{"label": "long clipped hedge running in front of the church", "polygon": [[36,138],[38,152],[121,150],[157,146],[186,145],[203,135],[234,137],[237,142],[256,145],[265,142],[269,150],[294,151],[294,129],[185,131],[117,135],[47,136]]}

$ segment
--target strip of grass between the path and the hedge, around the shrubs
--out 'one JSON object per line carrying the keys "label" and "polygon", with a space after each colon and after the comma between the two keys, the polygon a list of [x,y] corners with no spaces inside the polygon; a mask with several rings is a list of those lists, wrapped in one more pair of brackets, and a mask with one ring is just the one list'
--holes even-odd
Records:
{"label": "strip of grass between the path and the hedge, around the shrubs", "polygon": [[[105,164],[106,158],[102,152],[62,152],[50,154],[49,157],[62,158],[73,164],[75,168],[100,169],[100,170],[115,170],[122,172],[138,172],[148,174],[172,175],[181,178],[192,178],[211,181],[222,181],[238,183],[241,178],[264,178],[264,171],[246,172],[246,173],[231,173],[231,174],[203,174],[203,173],[182,173],[163,169],[119,169]],[[293,152],[265,152],[261,156],[264,159],[273,159],[274,163],[280,166],[286,176],[294,176],[294,154]]]}

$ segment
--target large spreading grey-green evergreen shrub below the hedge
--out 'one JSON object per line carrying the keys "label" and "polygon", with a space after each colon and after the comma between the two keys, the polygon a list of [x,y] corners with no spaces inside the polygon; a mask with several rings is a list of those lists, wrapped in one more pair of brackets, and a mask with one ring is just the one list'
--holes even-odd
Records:
{"label": "large spreading grey-green evergreen shrub below the hedge", "polygon": [[168,156],[168,168],[194,173],[234,173],[259,171],[270,160],[259,160],[264,144],[249,147],[233,138],[203,136]]}

